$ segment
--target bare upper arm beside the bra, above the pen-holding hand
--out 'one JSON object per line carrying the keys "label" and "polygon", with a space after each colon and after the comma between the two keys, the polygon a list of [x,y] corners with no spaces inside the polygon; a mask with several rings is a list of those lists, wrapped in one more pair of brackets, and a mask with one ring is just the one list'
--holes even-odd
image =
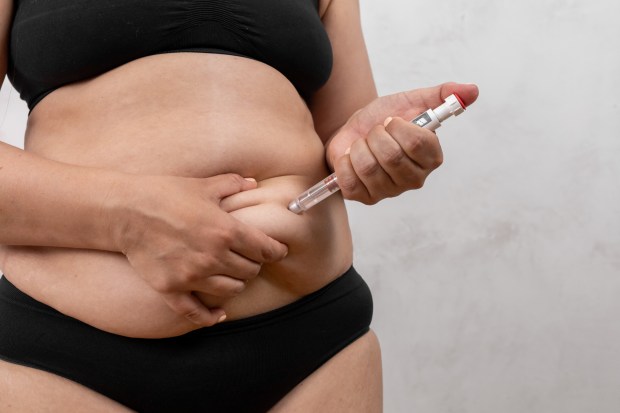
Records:
{"label": "bare upper arm beside the bra, above the pen-holding hand", "polygon": [[315,128],[323,142],[355,111],[377,97],[358,0],[325,1],[328,3],[322,7],[322,19],[332,44],[334,66],[329,80],[310,102]]}

